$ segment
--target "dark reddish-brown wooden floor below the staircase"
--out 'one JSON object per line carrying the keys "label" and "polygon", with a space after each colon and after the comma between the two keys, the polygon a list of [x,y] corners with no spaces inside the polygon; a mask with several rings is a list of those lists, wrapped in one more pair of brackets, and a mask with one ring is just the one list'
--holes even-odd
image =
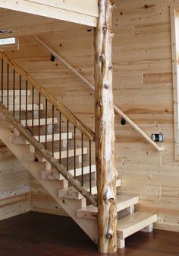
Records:
{"label": "dark reddish-brown wooden floor below the staircase", "polygon": [[[78,226],[65,217],[25,213],[0,222],[1,256],[101,255]],[[179,233],[138,232],[118,256],[179,256]]]}

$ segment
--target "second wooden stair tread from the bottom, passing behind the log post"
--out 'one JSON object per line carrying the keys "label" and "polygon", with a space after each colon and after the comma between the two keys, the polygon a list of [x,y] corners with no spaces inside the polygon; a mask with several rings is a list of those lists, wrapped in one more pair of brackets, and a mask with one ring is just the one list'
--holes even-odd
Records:
{"label": "second wooden stair tread from the bottom, passing behind the log post", "polygon": [[[117,195],[116,201],[117,211],[119,212],[139,203],[139,197],[120,194]],[[98,208],[96,206],[93,206],[93,204],[77,210],[77,216],[83,219],[96,219],[97,213]]]}

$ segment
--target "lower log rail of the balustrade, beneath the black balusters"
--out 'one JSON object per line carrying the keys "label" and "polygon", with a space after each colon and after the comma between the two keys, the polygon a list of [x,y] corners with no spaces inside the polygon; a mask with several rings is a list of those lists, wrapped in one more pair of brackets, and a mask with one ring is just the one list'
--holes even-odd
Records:
{"label": "lower log rail of the balustrade, beneath the black balusters", "polygon": [[31,133],[24,128],[24,126],[19,123],[16,118],[14,118],[10,111],[7,110],[7,108],[0,103],[0,110],[3,114],[5,114],[5,117],[11,122],[11,124],[22,134],[30,144],[40,152],[43,158],[46,158],[46,160],[59,172],[61,175],[66,178],[69,183],[75,187],[80,194],[83,195],[83,197],[86,197],[87,200],[89,200],[91,203],[93,203],[94,206],[97,206],[97,200],[96,197],[90,194],[83,186],[80,185],[80,182],[74,179],[74,176],[69,172],[66,171],[63,167],[63,165],[58,164],[57,160],[52,157],[52,154],[45,149],[44,146],[42,146],[42,143],[39,143],[32,135]]}

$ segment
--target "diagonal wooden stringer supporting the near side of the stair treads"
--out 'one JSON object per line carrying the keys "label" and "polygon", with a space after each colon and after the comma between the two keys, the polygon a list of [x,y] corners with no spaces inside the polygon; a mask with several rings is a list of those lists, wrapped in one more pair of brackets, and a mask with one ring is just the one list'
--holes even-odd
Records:
{"label": "diagonal wooden stringer supporting the near side of the stair treads", "polygon": [[[11,126],[11,123],[8,123]],[[89,238],[93,240],[93,242],[97,243],[97,221],[93,219],[88,219],[88,221],[86,221],[86,219],[77,217],[77,209],[81,208],[81,201],[68,199],[64,200],[58,197],[58,183],[56,181],[43,180],[40,177],[41,171],[44,169],[42,168],[42,165],[39,165],[39,162],[28,162],[24,160],[24,154],[30,152],[30,146],[11,144],[10,138],[12,135],[12,128],[0,126],[0,139],[2,142],[5,143],[8,149],[11,150],[11,152],[17,157],[21,164],[24,165],[28,171],[30,171],[30,174],[33,175],[36,181],[38,181],[39,184],[41,184],[42,187],[44,187],[49,192],[49,194],[59,203],[59,205],[68,213],[68,215],[71,216],[75,222],[77,222],[77,225],[80,226],[84,232],[86,232],[86,235],[88,235]]]}

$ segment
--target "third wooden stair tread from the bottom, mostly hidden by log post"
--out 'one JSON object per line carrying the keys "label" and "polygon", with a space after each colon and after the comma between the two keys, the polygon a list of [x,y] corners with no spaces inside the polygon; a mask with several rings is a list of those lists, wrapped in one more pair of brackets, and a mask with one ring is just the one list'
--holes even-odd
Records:
{"label": "third wooden stair tread from the bottom, mostly hidden by log post", "polygon": [[[118,179],[116,181],[116,187],[121,186],[121,180]],[[86,188],[86,190],[89,190],[89,181],[84,182],[83,187]],[[97,187],[96,187],[96,180],[92,181],[92,194],[97,194]],[[67,198],[67,199],[77,199],[80,200],[83,198],[83,195],[80,194],[74,187],[68,187],[62,190],[58,191],[58,197],[61,198]]]}

